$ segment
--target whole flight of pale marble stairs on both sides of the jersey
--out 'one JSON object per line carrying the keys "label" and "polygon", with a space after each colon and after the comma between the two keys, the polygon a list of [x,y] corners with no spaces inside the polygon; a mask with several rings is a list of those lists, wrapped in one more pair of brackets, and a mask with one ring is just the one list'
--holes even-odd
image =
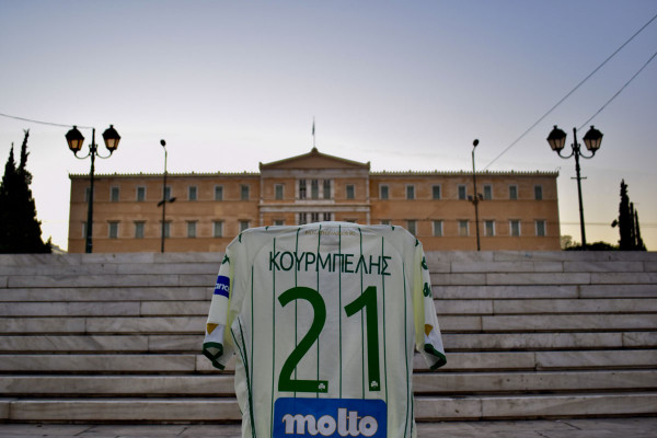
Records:
{"label": "whole flight of pale marble stairs on both sides of the jersey", "polygon": [[[200,356],[221,256],[0,255],[0,422],[241,415]],[[657,413],[657,253],[427,254],[448,365],[418,420]]]}

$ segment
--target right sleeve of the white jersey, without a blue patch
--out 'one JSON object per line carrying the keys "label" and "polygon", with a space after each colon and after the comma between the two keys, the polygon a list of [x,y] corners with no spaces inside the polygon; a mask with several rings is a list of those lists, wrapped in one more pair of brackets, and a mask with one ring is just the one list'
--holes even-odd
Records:
{"label": "right sleeve of the white jersey, without a blue patch", "polygon": [[415,344],[429,368],[435,370],[447,364],[447,358],[431,293],[429,267],[420,243],[415,247],[414,258]]}

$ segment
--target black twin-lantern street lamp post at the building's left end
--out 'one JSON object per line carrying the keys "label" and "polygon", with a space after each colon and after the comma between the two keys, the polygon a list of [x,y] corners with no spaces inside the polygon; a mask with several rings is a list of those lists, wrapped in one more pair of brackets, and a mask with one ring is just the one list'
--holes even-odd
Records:
{"label": "black twin-lantern street lamp post at the building's left end", "polygon": [[[120,140],[120,136],[114,129],[114,125],[110,125],[107,129],[103,132],[103,140],[105,141],[105,147],[110,151],[110,155],[118,148],[118,141]],[[71,130],[66,132],[66,141],[69,145],[69,149],[76,158],[80,160],[84,160],[88,157],[91,157],[91,169],[89,171],[89,203],[87,208],[87,235],[85,235],[85,244],[84,251],[87,253],[91,253],[93,249],[92,242],[92,232],[93,232],[93,182],[94,182],[94,173],[95,173],[95,158],[106,159],[110,158],[103,157],[99,153],[99,147],[95,143],[95,128],[91,130],[91,145],[89,145],[89,153],[84,157],[78,157],[78,152],[82,149],[82,143],[84,142],[84,137],[82,132],[78,130],[77,126],[73,126]]]}

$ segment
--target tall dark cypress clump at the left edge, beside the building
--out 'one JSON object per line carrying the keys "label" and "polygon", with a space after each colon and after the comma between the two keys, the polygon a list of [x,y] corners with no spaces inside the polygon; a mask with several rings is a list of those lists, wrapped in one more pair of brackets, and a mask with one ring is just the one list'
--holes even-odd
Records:
{"label": "tall dark cypress clump at the left edge, beside the building", "polygon": [[21,147],[21,162],[16,168],[13,145],[4,165],[0,184],[0,253],[49,253],[50,241],[44,243],[41,222],[36,219],[36,206],[30,184],[32,174],[27,171],[27,139]]}

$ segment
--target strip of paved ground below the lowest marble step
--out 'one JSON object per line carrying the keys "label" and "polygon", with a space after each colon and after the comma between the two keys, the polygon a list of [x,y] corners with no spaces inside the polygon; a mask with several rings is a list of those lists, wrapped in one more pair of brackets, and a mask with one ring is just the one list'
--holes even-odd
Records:
{"label": "strip of paved ground below the lowest marble step", "polygon": [[[418,438],[653,438],[657,417],[419,423]],[[239,425],[0,424],[0,437],[240,438]]]}

